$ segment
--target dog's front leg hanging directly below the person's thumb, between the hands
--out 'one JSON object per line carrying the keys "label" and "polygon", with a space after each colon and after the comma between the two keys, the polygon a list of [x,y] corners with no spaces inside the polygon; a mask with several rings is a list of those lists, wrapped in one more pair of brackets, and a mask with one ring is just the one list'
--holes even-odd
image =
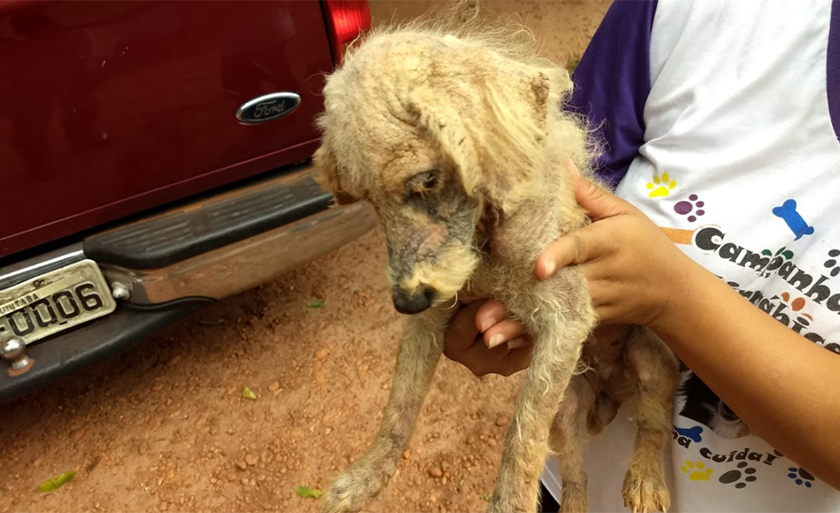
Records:
{"label": "dog's front leg hanging directly below the person's thumb, between the hands", "polygon": [[[579,283],[576,271],[565,274],[566,283]],[[537,510],[539,475],[548,454],[552,420],[595,323],[585,288],[565,288],[561,300],[536,300],[529,305],[530,315],[519,315],[534,340],[534,356],[507,432],[488,512]]]}

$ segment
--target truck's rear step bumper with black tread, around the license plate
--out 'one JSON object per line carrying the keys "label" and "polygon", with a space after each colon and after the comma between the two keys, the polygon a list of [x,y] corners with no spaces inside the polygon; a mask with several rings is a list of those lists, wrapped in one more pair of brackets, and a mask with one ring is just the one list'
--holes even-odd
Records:
{"label": "truck's rear step bumper with black tread, around the license plate", "polygon": [[[265,283],[376,226],[375,212],[367,203],[330,206],[324,201],[324,192],[311,185],[313,172],[301,166],[206,195],[0,268],[2,291],[91,259],[118,298],[111,314],[29,344],[26,357],[31,362],[23,372],[11,365],[0,368],[0,402],[121,352],[214,301]],[[207,212],[222,212],[229,219]],[[215,224],[202,222],[207,218]],[[183,226],[191,228],[178,228]],[[140,235],[132,239],[132,234]],[[151,236],[151,242],[143,239]]]}

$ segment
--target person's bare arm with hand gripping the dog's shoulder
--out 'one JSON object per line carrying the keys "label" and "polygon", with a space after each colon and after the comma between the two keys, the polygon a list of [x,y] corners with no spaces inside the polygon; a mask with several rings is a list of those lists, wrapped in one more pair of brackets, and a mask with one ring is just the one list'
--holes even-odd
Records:
{"label": "person's bare arm with hand gripping the dog's shoulder", "polygon": [[[575,180],[594,222],[547,248],[537,276],[580,265],[601,322],[646,325],[757,435],[840,489],[840,356],[756,308],[629,203]],[[487,321],[482,308],[498,313],[482,305],[473,324]]]}

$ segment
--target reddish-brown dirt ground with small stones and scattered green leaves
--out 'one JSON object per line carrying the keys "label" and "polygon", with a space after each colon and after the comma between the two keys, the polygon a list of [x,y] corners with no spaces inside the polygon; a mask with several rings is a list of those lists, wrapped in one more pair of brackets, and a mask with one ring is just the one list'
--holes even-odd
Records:
{"label": "reddish-brown dirt ground with small stones and scattered green leaves", "polygon": [[[374,1],[374,23],[435,2]],[[608,1],[489,2],[544,54],[579,56]],[[0,513],[310,512],[378,429],[403,319],[377,230],[108,362],[0,408]],[[323,305],[321,306],[321,302]],[[444,361],[372,512],[473,512],[493,490],[521,376]],[[256,399],[242,397],[249,387]],[[46,479],[73,470],[65,486]]]}

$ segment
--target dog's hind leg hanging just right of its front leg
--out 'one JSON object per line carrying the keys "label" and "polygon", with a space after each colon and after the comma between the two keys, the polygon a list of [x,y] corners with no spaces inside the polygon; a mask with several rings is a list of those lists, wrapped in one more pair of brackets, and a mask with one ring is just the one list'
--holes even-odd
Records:
{"label": "dog's hind leg hanging just right of its front leg", "polygon": [[594,398],[595,394],[586,378],[582,375],[573,377],[551,425],[549,446],[557,454],[563,482],[563,495],[560,498],[562,513],[586,513],[588,508],[580,425],[583,415],[593,406]]}

